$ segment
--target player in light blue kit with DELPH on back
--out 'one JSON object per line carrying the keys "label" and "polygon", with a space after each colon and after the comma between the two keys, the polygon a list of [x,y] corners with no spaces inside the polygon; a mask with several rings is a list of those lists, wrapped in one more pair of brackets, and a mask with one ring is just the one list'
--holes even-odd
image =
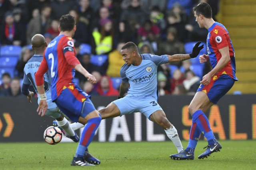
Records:
{"label": "player in light blue kit with DELPH on back", "polygon": [[[30,84],[34,87],[36,93],[36,84],[35,84],[35,73],[38,70],[40,63],[43,59],[44,50],[47,47],[47,43],[45,42],[44,36],[41,34],[36,34],[33,36],[32,40],[32,48],[35,51],[35,54],[31,57],[31,59],[28,60],[24,67],[24,78],[22,83],[22,93],[28,97],[28,101],[31,103],[32,96],[34,93],[32,91],[28,90],[28,87]],[[57,107],[55,103],[52,102],[51,97],[51,89],[50,89],[50,79],[48,78],[49,72],[44,74],[44,89],[46,91],[47,95],[47,103],[48,103],[48,110],[46,112],[46,115],[56,119],[57,124],[60,128],[62,128],[64,131],[64,134],[72,139],[74,142],[79,141],[79,136],[77,136],[76,132],[74,130],[77,129],[77,127],[81,128],[84,127],[84,125],[80,123],[74,123],[72,127],[68,123],[68,120],[63,116],[62,111]],[[40,97],[38,95],[38,103],[40,101]],[[54,123],[56,122],[54,121]]]}

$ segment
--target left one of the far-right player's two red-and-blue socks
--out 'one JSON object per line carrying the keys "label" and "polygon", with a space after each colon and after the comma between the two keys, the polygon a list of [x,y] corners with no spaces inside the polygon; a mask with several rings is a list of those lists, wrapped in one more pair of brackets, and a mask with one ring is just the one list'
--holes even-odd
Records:
{"label": "left one of the far-right player's two red-and-blue socks", "polygon": [[191,125],[191,128],[190,128],[188,146],[185,149],[186,152],[194,154],[196,144],[198,142],[198,138],[199,138],[200,134],[201,134],[200,129],[196,125],[196,122],[194,121],[194,119],[192,119],[192,125]]}

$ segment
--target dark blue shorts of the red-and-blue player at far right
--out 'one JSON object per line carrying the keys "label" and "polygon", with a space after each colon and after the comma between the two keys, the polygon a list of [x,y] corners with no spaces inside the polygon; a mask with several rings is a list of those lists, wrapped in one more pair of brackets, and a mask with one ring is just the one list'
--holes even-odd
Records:
{"label": "dark blue shorts of the red-and-blue player at far right", "polygon": [[198,91],[207,94],[209,100],[216,104],[222,96],[224,96],[234,85],[235,80],[230,76],[223,74],[221,76],[214,75],[208,85],[200,85]]}

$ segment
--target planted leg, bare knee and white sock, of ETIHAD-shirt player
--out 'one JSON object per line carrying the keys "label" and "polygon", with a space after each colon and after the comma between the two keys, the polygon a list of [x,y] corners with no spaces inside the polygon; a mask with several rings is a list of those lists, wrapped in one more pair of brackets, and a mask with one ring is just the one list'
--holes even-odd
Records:
{"label": "planted leg, bare knee and white sock, of ETIHAD-shirt player", "polygon": [[155,111],[154,113],[152,113],[152,115],[150,115],[150,119],[164,129],[168,138],[170,138],[170,140],[172,140],[172,142],[176,146],[178,152],[183,150],[178,132],[176,128],[168,121],[164,111]]}

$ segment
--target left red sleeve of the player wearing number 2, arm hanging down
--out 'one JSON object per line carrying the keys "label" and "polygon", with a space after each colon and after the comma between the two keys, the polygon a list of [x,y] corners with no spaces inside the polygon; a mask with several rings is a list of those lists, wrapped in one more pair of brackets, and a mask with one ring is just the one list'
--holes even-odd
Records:
{"label": "left red sleeve of the player wearing number 2, arm hanging down", "polygon": [[36,71],[36,74],[35,74],[35,80],[36,80],[37,86],[44,84],[44,73],[46,73],[46,71],[48,71],[48,65],[45,57],[43,57],[42,62],[38,68],[38,71]]}

